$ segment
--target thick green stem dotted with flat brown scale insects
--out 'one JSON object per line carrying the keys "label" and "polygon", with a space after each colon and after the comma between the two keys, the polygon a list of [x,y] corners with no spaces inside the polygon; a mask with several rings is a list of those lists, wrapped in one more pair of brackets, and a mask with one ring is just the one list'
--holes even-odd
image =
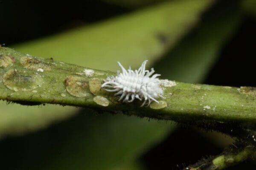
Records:
{"label": "thick green stem dotted with flat brown scale insects", "polygon": [[[193,73],[191,73],[193,74]],[[163,80],[165,99],[140,107],[127,104],[100,86],[114,72],[88,69],[53,59],[34,58],[0,47],[0,99],[25,105],[90,107],[174,121],[256,122],[256,89]]]}

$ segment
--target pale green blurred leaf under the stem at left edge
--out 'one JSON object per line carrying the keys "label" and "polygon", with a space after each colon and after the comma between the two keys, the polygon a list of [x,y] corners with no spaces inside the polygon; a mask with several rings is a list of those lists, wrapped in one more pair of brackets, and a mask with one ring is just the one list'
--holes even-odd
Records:
{"label": "pale green blurred leaf under the stem at left edge", "polygon": [[0,139],[6,135],[23,135],[42,129],[57,120],[77,114],[73,107],[48,104],[47,106],[21,106],[1,101],[0,108]]}

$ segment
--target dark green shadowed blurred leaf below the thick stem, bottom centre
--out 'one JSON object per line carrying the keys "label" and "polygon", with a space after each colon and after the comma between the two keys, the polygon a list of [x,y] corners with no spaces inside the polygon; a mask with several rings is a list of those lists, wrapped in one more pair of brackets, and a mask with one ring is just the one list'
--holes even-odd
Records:
{"label": "dark green shadowed blurred leaf below the thick stem, bottom centre", "polygon": [[128,166],[136,155],[153,141],[160,141],[170,126],[175,125],[166,121],[148,122],[135,116],[107,113],[95,116],[87,109],[81,113],[47,131],[7,140],[6,144],[2,142],[0,158],[5,161],[1,167],[99,170]]}

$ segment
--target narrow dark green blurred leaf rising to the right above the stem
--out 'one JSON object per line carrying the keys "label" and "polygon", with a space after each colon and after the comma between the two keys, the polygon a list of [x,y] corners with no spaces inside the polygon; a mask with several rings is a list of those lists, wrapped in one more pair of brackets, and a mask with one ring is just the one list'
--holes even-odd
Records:
{"label": "narrow dark green blurred leaf rising to the right above the stem", "polygon": [[221,48],[241,25],[239,3],[220,2],[213,12],[177,44],[164,58],[155,63],[163,78],[199,83],[218,58]]}

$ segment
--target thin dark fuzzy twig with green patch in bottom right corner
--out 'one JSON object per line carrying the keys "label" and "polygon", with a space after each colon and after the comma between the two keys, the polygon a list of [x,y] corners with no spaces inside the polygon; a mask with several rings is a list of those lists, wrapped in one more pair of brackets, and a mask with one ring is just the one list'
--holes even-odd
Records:
{"label": "thin dark fuzzy twig with green patch in bottom right corner", "polygon": [[214,126],[211,124],[207,129],[217,130],[236,137],[236,143],[227,147],[219,156],[203,158],[184,168],[184,170],[223,170],[252,158],[256,152],[256,131],[254,130],[244,129],[244,127],[236,124],[224,124],[223,126],[223,124],[218,123]]}

